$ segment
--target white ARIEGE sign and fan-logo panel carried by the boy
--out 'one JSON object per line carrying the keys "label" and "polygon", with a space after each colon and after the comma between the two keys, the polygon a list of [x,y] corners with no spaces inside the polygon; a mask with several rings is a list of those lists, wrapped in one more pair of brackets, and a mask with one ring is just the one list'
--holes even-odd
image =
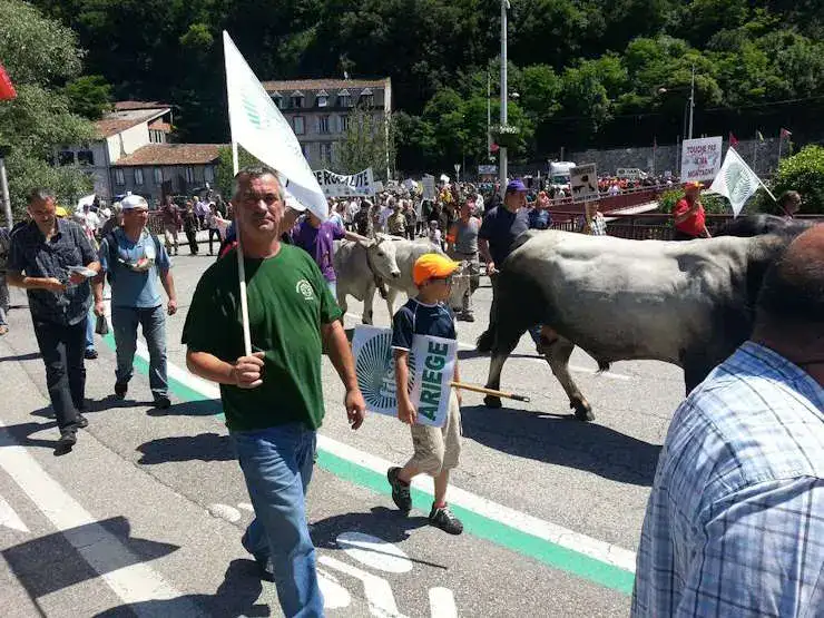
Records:
{"label": "white ARIEGE sign and fan-logo panel carried by the boy", "polygon": [[[355,326],[352,353],[366,410],[398,416],[392,330]],[[443,426],[447,423],[457,356],[455,340],[425,335],[415,335],[412,340],[409,388],[412,405],[418,411],[418,424]]]}

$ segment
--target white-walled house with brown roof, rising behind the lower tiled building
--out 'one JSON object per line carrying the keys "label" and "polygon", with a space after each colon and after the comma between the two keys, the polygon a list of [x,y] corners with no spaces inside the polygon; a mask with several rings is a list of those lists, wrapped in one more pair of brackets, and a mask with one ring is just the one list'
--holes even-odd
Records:
{"label": "white-walled house with brown roof, rising behind the lower tiled building", "polygon": [[118,192],[112,165],[151,144],[166,144],[171,133],[171,106],[159,102],[121,101],[95,122],[98,138],[65,147],[55,154],[57,165],[77,165],[95,183],[95,194],[111,203]]}

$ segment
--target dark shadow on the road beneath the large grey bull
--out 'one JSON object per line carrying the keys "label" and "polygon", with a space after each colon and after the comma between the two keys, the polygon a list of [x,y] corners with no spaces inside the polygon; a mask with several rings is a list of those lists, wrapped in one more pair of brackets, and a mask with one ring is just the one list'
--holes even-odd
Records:
{"label": "dark shadow on the road beneath the large grey bull", "polygon": [[463,436],[503,453],[576,468],[605,479],[651,485],[660,445],[572,415],[461,409]]}

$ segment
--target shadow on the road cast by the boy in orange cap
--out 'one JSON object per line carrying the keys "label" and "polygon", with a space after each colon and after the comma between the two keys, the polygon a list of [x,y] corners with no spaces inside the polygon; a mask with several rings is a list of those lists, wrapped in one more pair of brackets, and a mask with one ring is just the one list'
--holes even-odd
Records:
{"label": "shadow on the road cast by the boy in orange cap", "polygon": [[[425,517],[406,517],[393,509],[373,507],[370,512],[345,513],[313,522],[312,540],[317,549],[339,551],[341,547],[336,539],[343,532],[362,532],[390,543],[399,543],[409,539],[409,533],[412,530],[424,526],[429,526]],[[377,551],[377,549],[371,551]],[[409,559],[426,567],[447,569],[443,565],[416,560],[411,557]]]}

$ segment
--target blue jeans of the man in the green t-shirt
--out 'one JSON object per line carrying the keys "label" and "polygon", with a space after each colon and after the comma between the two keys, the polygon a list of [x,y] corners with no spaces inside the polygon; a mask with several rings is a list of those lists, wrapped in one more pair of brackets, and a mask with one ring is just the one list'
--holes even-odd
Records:
{"label": "blue jeans of the man in the green t-shirt", "polygon": [[315,548],[306,523],[316,434],[301,423],[258,431],[233,431],[255,519],[245,548],[271,558],[281,609],[288,616],[323,616]]}

